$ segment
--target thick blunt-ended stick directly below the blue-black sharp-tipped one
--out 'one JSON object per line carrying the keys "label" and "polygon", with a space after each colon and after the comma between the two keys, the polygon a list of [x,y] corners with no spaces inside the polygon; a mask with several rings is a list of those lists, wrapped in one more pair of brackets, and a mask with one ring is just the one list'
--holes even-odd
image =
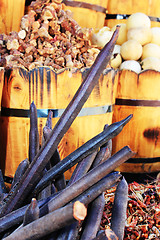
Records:
{"label": "thick blunt-ended stick directly below the blue-black sharp-tipped one", "polygon": [[124,163],[132,156],[134,156],[134,153],[129,147],[126,146],[122,148],[107,161],[101,163],[100,165],[89,171],[87,174],[85,174],[81,179],[62,190],[61,193],[59,193],[54,198],[54,200],[50,200],[47,204],[49,212],[61,206],[64,206],[66,203],[80,195],[93,184],[97,183],[99,180],[101,180],[103,177],[105,177],[107,174],[109,174],[116,167]]}

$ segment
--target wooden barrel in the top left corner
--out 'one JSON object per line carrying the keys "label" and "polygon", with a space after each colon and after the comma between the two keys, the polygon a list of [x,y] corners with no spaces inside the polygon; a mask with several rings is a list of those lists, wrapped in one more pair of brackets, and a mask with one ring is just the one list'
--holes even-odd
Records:
{"label": "wooden barrel in the top left corner", "polygon": [[25,0],[1,0],[0,33],[9,34],[11,31],[18,32],[24,10]]}

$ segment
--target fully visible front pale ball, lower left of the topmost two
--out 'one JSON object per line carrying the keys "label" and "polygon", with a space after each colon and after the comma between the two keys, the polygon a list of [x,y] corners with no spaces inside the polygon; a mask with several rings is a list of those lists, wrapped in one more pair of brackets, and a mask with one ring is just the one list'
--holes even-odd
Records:
{"label": "fully visible front pale ball, lower left of the topmost two", "polygon": [[142,45],[134,39],[124,42],[121,46],[121,56],[124,60],[138,60],[142,56]]}

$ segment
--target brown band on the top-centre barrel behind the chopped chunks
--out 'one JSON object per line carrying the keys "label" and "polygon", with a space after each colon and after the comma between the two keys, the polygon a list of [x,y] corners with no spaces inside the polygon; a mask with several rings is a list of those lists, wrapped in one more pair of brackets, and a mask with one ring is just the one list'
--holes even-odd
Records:
{"label": "brown band on the top-centre barrel behind the chopped chunks", "polygon": [[91,4],[91,3],[86,3],[86,2],[80,2],[80,1],[71,1],[71,0],[63,0],[62,1],[66,6],[70,7],[79,7],[79,8],[88,8],[91,10],[94,10],[96,12],[102,12],[106,13],[107,9],[96,5],[96,4]]}

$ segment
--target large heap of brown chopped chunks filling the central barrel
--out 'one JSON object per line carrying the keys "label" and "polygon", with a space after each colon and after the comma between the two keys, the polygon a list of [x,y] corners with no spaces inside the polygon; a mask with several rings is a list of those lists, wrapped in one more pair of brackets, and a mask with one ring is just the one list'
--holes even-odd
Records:
{"label": "large heap of brown chopped chunks filling the central barrel", "polygon": [[82,29],[61,0],[33,1],[20,28],[0,35],[1,67],[80,69],[91,67],[99,53],[90,41],[92,29]]}

